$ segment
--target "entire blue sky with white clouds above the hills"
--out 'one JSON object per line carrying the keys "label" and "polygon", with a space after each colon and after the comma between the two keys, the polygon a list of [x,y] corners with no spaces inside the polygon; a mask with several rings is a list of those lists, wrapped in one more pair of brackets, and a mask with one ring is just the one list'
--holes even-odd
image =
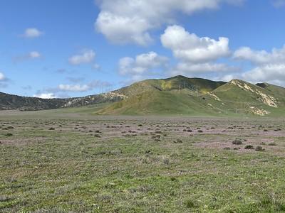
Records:
{"label": "entire blue sky with white clouds above the hills", "polygon": [[175,75],[285,86],[285,0],[1,0],[0,92],[82,97]]}

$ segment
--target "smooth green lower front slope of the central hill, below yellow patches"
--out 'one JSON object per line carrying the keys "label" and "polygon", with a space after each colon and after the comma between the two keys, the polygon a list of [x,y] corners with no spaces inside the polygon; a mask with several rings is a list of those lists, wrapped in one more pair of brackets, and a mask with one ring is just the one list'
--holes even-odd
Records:
{"label": "smooth green lower front slope of the central hill, below yellow patches", "polygon": [[98,114],[123,115],[214,115],[212,108],[205,107],[204,100],[187,91],[152,91],[129,97],[98,111]]}

